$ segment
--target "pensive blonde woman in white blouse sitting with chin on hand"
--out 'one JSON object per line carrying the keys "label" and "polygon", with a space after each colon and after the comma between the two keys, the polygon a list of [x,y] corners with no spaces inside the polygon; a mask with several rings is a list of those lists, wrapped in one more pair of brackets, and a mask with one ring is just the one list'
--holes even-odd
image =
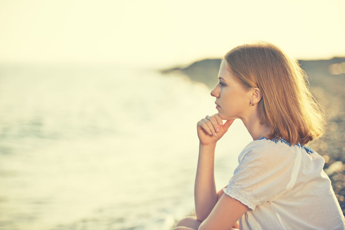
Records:
{"label": "pensive blonde woman in white blouse sitting with chin on hand", "polygon": [[[218,113],[197,123],[196,217],[175,230],[345,229],[324,159],[306,146],[324,133],[325,120],[298,62],[273,44],[245,44],[225,55],[218,78],[211,91]],[[236,118],[253,141],[216,192],[216,143]]]}

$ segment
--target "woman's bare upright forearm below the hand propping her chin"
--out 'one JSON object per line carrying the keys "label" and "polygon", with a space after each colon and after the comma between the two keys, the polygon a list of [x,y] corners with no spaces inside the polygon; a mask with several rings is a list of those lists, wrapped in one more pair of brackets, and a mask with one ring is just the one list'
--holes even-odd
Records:
{"label": "woman's bare upright forearm below the hand propping her chin", "polygon": [[217,203],[214,178],[214,153],[216,145],[199,144],[199,158],[194,185],[195,212],[204,221]]}

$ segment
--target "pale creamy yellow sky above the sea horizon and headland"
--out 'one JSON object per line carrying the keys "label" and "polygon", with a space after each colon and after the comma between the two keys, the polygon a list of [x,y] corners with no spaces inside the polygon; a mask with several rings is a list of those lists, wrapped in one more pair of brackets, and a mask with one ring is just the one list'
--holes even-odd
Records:
{"label": "pale creamy yellow sky above the sea horizon and headland", "polygon": [[0,63],[165,67],[263,40],[297,59],[345,56],[344,0],[0,0]]}

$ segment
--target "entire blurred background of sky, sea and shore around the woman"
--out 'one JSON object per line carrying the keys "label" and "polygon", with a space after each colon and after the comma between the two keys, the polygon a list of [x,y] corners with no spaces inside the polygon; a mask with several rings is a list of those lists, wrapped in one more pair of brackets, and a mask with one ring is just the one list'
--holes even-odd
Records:
{"label": "entire blurred background of sky, sea and shore around the woman", "polygon": [[[298,59],[345,210],[345,1],[0,0],[0,229],[171,229],[194,209],[196,123],[220,58],[262,40]],[[235,121],[217,190],[251,141]]]}

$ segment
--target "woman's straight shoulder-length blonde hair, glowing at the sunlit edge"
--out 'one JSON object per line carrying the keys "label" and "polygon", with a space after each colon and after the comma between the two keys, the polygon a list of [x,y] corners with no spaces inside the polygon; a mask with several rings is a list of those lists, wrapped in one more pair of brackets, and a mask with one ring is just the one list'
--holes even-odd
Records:
{"label": "woman's straight shoulder-length blonde hair, glowing at the sunlit edge", "polygon": [[323,135],[324,110],[309,92],[297,60],[267,42],[235,47],[224,59],[244,88],[260,89],[260,123],[271,128],[266,138],[306,144]]}

